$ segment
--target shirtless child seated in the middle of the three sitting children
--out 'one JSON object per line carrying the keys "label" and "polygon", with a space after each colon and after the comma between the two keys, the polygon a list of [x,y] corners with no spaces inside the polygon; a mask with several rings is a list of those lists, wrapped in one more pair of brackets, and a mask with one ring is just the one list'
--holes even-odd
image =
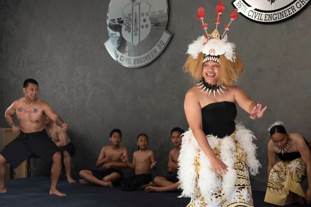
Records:
{"label": "shirtless child seated in the middle of the three sitting children", "polygon": [[121,156],[121,160],[128,167],[135,169],[135,176],[121,181],[121,190],[123,191],[142,190],[147,186],[154,185],[151,182],[151,169],[156,169],[156,160],[153,151],[147,149],[148,136],[146,134],[138,135],[137,145],[139,150],[133,154],[133,163],[129,163],[126,156]]}

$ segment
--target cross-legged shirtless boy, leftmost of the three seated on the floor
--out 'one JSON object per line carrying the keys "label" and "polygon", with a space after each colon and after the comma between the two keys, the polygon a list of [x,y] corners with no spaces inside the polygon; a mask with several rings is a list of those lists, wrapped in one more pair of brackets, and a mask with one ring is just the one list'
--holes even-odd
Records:
{"label": "cross-legged shirtless boy, leftmost of the three seated on the floor", "polygon": [[111,145],[104,146],[100,151],[96,166],[103,167],[102,170],[81,170],[79,182],[83,185],[101,185],[113,188],[113,183],[118,182],[123,178],[121,168],[128,166],[123,163],[120,157],[128,156],[128,150],[120,146],[122,141],[122,133],[119,129],[114,129],[110,132],[109,141]]}

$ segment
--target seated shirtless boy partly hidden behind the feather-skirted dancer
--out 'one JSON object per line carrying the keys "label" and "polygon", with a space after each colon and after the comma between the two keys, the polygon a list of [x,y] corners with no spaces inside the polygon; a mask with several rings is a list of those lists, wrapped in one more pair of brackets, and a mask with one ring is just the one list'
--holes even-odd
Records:
{"label": "seated shirtless boy partly hidden behind the feather-skirted dancer", "polygon": [[148,186],[145,191],[148,192],[163,192],[163,191],[179,191],[179,182],[176,177],[177,169],[179,168],[177,164],[177,159],[179,157],[180,145],[181,145],[181,134],[184,131],[175,127],[171,130],[171,140],[176,148],[169,152],[169,164],[167,166],[167,172],[169,174],[175,173],[171,177],[155,177],[154,183],[156,186]]}

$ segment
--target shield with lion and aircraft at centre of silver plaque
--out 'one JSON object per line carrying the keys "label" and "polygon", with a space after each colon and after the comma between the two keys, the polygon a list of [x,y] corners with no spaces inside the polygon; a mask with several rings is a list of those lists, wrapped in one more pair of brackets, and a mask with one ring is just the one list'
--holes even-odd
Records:
{"label": "shield with lion and aircraft at centre of silver plaque", "polygon": [[150,7],[147,2],[143,1],[138,5],[128,4],[122,11],[124,18],[122,26],[123,38],[135,44],[135,46],[150,33]]}

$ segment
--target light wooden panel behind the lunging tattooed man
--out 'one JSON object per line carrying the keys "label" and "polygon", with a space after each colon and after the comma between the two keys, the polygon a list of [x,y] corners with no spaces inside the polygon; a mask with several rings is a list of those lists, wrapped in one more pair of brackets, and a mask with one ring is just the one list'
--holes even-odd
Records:
{"label": "light wooden panel behind the lunging tattooed man", "polygon": [[[16,138],[17,135],[19,135],[19,132],[13,133],[12,128],[2,128],[2,146],[4,147],[5,145],[9,144],[12,140]],[[6,179],[10,179],[10,164],[6,164],[6,166]],[[27,177],[27,160],[25,160],[23,163],[21,163],[20,166],[15,168],[14,171],[14,178]]]}

